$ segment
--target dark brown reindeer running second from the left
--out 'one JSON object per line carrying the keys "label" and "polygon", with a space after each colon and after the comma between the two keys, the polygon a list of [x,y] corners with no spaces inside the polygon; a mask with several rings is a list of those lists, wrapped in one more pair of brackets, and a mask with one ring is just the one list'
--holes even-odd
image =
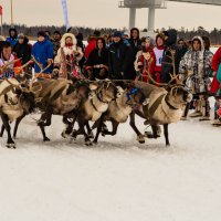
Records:
{"label": "dark brown reindeer running second from the left", "polygon": [[48,80],[42,82],[43,88],[38,96],[40,102],[36,106],[44,112],[38,122],[44,141],[50,141],[44,127],[51,125],[52,115],[63,115],[63,123],[72,125],[67,119],[75,119],[78,108],[90,99],[91,90],[87,84],[73,84],[67,80]]}

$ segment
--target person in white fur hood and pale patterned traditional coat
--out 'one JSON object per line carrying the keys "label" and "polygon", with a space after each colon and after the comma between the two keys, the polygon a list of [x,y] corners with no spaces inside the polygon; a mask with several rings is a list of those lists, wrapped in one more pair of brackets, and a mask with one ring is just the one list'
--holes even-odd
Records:
{"label": "person in white fur hood and pale patterned traditional coat", "polygon": [[55,76],[59,78],[80,77],[81,69],[78,62],[84,56],[82,49],[77,46],[77,40],[74,34],[65,33],[61,40],[61,48],[54,59]]}

